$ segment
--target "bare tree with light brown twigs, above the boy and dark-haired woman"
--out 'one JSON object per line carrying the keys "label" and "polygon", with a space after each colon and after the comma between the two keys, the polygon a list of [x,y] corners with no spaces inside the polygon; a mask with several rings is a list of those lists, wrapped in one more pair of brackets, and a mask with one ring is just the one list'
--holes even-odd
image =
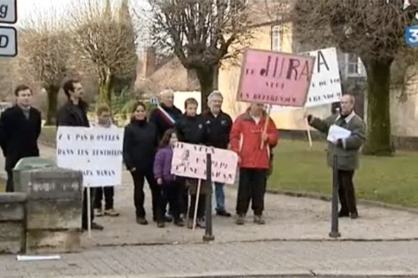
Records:
{"label": "bare tree with light brown twigs, above the boy and dark-haired woman", "polygon": [[115,83],[128,79],[133,84],[138,58],[128,1],[119,1],[118,8],[110,0],[103,3],[79,0],[72,13],[72,31],[81,58],[90,60],[99,76],[100,101],[111,106]]}

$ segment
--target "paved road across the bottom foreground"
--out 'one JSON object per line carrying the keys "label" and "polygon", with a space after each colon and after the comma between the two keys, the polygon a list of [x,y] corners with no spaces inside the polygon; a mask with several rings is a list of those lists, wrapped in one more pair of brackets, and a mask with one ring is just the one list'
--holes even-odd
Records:
{"label": "paved road across the bottom foreground", "polygon": [[[258,242],[95,247],[60,261],[0,256],[0,277],[418,275],[418,242]],[[218,276],[217,276],[218,275]]]}

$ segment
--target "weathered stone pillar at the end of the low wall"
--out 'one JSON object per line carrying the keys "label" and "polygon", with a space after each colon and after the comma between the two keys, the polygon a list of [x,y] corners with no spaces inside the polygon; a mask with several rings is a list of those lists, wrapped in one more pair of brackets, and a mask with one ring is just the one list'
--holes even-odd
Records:
{"label": "weathered stone pillar at the end of the low wall", "polygon": [[26,252],[81,250],[82,172],[44,167],[14,174],[16,188],[28,195]]}

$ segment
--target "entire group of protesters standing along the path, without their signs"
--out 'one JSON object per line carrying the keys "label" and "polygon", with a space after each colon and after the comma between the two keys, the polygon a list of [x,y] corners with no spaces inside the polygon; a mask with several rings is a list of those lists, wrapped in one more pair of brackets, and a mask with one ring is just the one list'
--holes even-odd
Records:
{"label": "entire group of protesters standing along the path, without their signs", "polygon": [[[91,124],[87,117],[88,104],[83,101],[83,86],[76,79],[63,84],[68,101],[57,113],[57,126],[114,126],[111,111],[101,105],[96,109],[97,122]],[[31,106],[33,92],[26,85],[15,89],[16,105],[0,116],[0,145],[6,157],[8,175],[6,191],[13,192],[13,167],[20,158],[39,156],[38,137],[41,131],[40,112]],[[272,167],[272,149],[277,145],[278,132],[263,104],[251,103],[235,121],[222,111],[223,97],[215,90],[208,95],[208,111],[197,114],[198,101],[186,99],[185,113],[174,106],[172,90],[160,92],[161,103],[147,115],[143,102],[138,102],[132,111],[130,123],[125,126],[123,139],[123,161],[132,175],[134,184],[134,206],[138,224],[148,224],[144,209],[144,183],[150,187],[153,221],[164,227],[173,221],[176,226],[185,224],[192,228],[195,213],[196,227],[205,227],[204,208],[206,194],[212,194],[212,184],[198,180],[176,177],[171,174],[173,147],[176,142],[187,142],[221,149],[231,149],[238,154],[239,185],[235,206],[236,224],[245,224],[251,202],[254,222],[265,224],[263,218],[264,195],[267,176]],[[354,98],[341,99],[342,110],[326,120],[305,115],[309,124],[327,133],[331,124],[341,124],[352,131],[344,140],[330,142],[330,152],[345,158],[339,169],[340,216],[357,218],[353,174],[357,167],[357,152],[364,142],[364,122],[353,111]],[[341,160],[340,160],[341,161]],[[231,217],[226,211],[224,184],[215,183],[216,214]],[[93,205],[88,208],[87,191],[91,190]],[[199,191],[199,195],[198,195]],[[104,195],[104,210],[102,199]],[[114,209],[114,188],[84,189],[82,205],[82,228],[87,229],[88,213],[91,210],[91,229],[103,229],[93,221],[94,216],[117,216]]]}

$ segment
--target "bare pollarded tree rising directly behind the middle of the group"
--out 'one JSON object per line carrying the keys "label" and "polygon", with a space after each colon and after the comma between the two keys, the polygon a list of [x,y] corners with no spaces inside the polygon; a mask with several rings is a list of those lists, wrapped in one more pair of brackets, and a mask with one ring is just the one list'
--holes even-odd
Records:
{"label": "bare pollarded tree rising directly behind the middle of the group", "polygon": [[222,59],[235,58],[247,45],[248,10],[242,0],[149,0],[153,11],[153,42],[169,49],[187,70],[195,70],[206,97],[217,88]]}

